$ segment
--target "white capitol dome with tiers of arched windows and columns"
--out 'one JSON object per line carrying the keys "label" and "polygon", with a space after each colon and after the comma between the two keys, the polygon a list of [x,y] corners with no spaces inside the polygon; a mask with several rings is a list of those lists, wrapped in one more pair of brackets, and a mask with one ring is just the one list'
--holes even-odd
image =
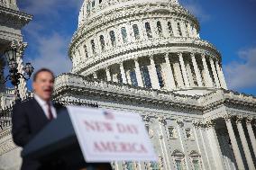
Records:
{"label": "white capitol dome with tiers of arched windows and columns", "polygon": [[177,0],[86,0],[72,73],[165,91],[226,89],[221,54],[199,30]]}

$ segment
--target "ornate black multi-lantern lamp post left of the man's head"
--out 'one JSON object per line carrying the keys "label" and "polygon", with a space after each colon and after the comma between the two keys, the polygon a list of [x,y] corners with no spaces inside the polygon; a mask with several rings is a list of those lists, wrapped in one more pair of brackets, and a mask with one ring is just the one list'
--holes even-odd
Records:
{"label": "ornate black multi-lantern lamp post left of the man's head", "polygon": [[18,85],[20,85],[20,79],[23,78],[24,80],[29,80],[30,77],[32,76],[32,72],[34,70],[34,68],[32,67],[31,63],[26,63],[25,67],[23,67],[23,70],[26,74],[26,76],[24,76],[23,74],[18,72],[18,64],[16,61],[16,54],[17,51],[15,48],[11,48],[5,51],[5,57],[7,59],[7,63],[8,66],[10,68],[9,70],[9,75],[5,77],[5,83],[10,80],[12,85],[14,85],[15,87],[15,101],[16,102],[21,102],[21,97],[19,94],[19,89],[18,89]]}

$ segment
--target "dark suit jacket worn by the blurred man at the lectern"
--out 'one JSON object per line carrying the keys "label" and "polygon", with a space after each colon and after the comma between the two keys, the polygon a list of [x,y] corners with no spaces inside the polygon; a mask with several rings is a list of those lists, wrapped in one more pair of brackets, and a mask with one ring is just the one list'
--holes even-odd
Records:
{"label": "dark suit jacket worn by the blurred man at the lectern", "polygon": [[[59,110],[64,109],[60,104],[53,105],[57,114]],[[50,122],[40,104],[33,98],[14,105],[12,121],[14,143],[22,148]],[[38,170],[40,167],[37,161],[30,158],[23,159],[22,170]]]}

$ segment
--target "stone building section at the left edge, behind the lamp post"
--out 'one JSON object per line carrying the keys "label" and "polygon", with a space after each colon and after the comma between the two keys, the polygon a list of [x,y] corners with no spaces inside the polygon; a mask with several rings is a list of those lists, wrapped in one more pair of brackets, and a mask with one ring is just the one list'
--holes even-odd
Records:
{"label": "stone building section at the left edge, behind the lamp post", "polygon": [[[4,67],[7,65],[5,50],[15,45],[19,73],[23,72],[23,42],[21,29],[32,20],[32,16],[19,11],[16,0],[0,0],[0,80],[3,82]],[[21,98],[28,92],[26,82],[21,80],[18,86]],[[20,150],[14,145],[11,135],[11,112],[14,103],[14,89],[0,85],[0,169],[16,170],[21,165]]]}

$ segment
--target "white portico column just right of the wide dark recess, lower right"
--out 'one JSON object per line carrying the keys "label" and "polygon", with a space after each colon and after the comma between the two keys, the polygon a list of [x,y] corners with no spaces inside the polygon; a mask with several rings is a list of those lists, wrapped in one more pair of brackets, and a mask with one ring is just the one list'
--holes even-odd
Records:
{"label": "white portico column just right of the wide dark recess, lower right", "polygon": [[232,148],[233,148],[233,154],[234,154],[238,169],[239,170],[245,170],[245,167],[244,167],[243,162],[242,162],[242,156],[241,156],[241,153],[240,153],[240,150],[238,148],[238,144],[237,144],[234,132],[233,132],[233,126],[232,126],[231,118],[230,118],[229,115],[227,115],[227,116],[225,116],[224,119],[225,119],[226,128],[228,130],[229,138],[230,138]]}

